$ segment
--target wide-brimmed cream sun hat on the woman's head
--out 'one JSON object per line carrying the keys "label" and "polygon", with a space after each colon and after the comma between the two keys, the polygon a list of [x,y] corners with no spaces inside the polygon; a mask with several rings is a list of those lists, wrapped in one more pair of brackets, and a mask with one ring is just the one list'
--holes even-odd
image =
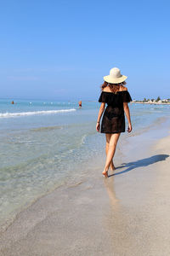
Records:
{"label": "wide-brimmed cream sun hat on the woman's head", "polygon": [[126,79],[127,77],[121,74],[121,71],[118,67],[111,68],[110,75],[104,77],[105,82],[111,84],[119,84]]}

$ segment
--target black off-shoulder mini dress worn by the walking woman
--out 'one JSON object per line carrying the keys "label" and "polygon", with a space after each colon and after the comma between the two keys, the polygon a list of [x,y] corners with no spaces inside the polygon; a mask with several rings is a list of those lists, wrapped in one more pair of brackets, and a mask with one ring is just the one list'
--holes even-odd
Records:
{"label": "black off-shoulder mini dress worn by the walking woman", "polygon": [[123,102],[132,102],[132,98],[127,90],[116,93],[102,91],[99,102],[107,103],[101,122],[101,133],[125,132],[125,115]]}

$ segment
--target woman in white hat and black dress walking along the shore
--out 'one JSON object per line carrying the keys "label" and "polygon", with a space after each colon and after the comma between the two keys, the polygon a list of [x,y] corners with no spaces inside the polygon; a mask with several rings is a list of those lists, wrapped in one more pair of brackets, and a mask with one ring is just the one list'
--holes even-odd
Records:
{"label": "woman in white hat and black dress walking along the shore", "polygon": [[[99,96],[99,102],[101,106],[99,108],[99,115],[96,124],[96,130],[100,130],[99,121],[103,115],[101,122],[101,133],[105,133],[106,138],[106,160],[105,169],[102,174],[108,177],[109,167],[111,170],[115,170],[113,164],[113,156],[116,151],[116,144],[120,137],[121,132],[125,132],[125,115],[127,116],[128,128],[127,131],[132,131],[132,124],[130,119],[130,112],[127,102],[132,102],[132,98],[127,91],[127,84],[125,80],[126,76],[122,75],[120,69],[117,67],[111,68],[110,75],[104,77],[104,84],[101,86],[101,94]],[[107,108],[105,108],[105,103],[107,103]]]}

